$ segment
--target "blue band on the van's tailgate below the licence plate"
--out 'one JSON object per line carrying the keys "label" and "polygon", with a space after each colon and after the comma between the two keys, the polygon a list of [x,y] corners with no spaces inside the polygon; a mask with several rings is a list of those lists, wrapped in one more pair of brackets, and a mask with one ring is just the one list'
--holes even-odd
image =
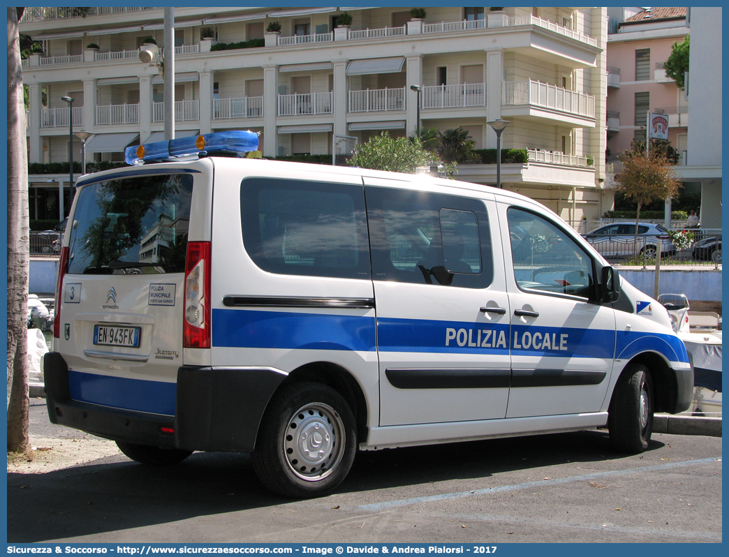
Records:
{"label": "blue band on the van's tailgate below the licence plate", "polygon": [[69,370],[71,399],[112,408],[175,415],[177,384]]}

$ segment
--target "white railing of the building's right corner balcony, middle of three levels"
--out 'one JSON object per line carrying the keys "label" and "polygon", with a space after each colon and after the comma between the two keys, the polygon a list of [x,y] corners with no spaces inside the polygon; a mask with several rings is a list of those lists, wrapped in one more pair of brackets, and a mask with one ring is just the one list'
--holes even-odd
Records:
{"label": "white railing of the building's right corner balcony, middle of three levels", "polygon": [[529,79],[504,82],[504,104],[531,104],[550,109],[595,117],[595,97]]}

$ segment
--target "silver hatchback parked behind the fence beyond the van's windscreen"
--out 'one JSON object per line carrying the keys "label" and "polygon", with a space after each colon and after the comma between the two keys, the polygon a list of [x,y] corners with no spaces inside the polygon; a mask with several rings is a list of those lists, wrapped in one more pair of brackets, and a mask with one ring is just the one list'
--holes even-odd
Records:
{"label": "silver hatchback parked behind the fence beyond the van's windscreen", "polygon": [[603,257],[631,257],[633,254],[655,257],[658,246],[661,257],[676,253],[676,247],[668,237],[668,230],[651,222],[639,222],[637,235],[635,223],[615,222],[582,236]]}

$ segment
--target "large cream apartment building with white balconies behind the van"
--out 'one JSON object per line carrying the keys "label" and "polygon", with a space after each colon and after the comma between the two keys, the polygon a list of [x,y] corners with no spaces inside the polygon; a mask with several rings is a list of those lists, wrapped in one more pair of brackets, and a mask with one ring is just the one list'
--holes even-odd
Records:
{"label": "large cream apartment building with white balconies behind the van", "polygon": [[[163,78],[138,54],[150,36],[165,46],[163,12],[26,9],[21,32],[44,44],[23,61],[31,163],[68,160],[69,117],[74,131],[94,134],[87,160],[120,160],[125,147],[162,139]],[[351,25],[338,25],[343,12]],[[486,122],[502,119],[510,122],[502,147],[529,154],[502,165],[502,187],[570,222],[612,208],[606,8],[428,7],[413,18],[409,7],[176,7],[174,15],[178,137],[242,128],[260,132],[264,157],[332,155],[383,130],[411,136],[419,114],[421,128],[462,126],[489,149],[496,134]],[[74,140],[74,160],[80,147]],[[459,179],[496,184],[496,165],[462,164]],[[31,217],[53,217],[63,180],[31,176]]]}

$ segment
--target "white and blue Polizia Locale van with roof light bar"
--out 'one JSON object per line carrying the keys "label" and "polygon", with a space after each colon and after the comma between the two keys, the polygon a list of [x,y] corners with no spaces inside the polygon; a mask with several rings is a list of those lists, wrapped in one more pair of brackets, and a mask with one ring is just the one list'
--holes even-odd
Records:
{"label": "white and blue Polizia Locale van with roof light bar", "polygon": [[269,488],[318,496],[358,448],[607,424],[639,452],[654,411],[689,407],[667,311],[539,203],[235,156],[255,149],[242,131],[163,141],[79,179],[53,423],[142,463],[250,452]]}

